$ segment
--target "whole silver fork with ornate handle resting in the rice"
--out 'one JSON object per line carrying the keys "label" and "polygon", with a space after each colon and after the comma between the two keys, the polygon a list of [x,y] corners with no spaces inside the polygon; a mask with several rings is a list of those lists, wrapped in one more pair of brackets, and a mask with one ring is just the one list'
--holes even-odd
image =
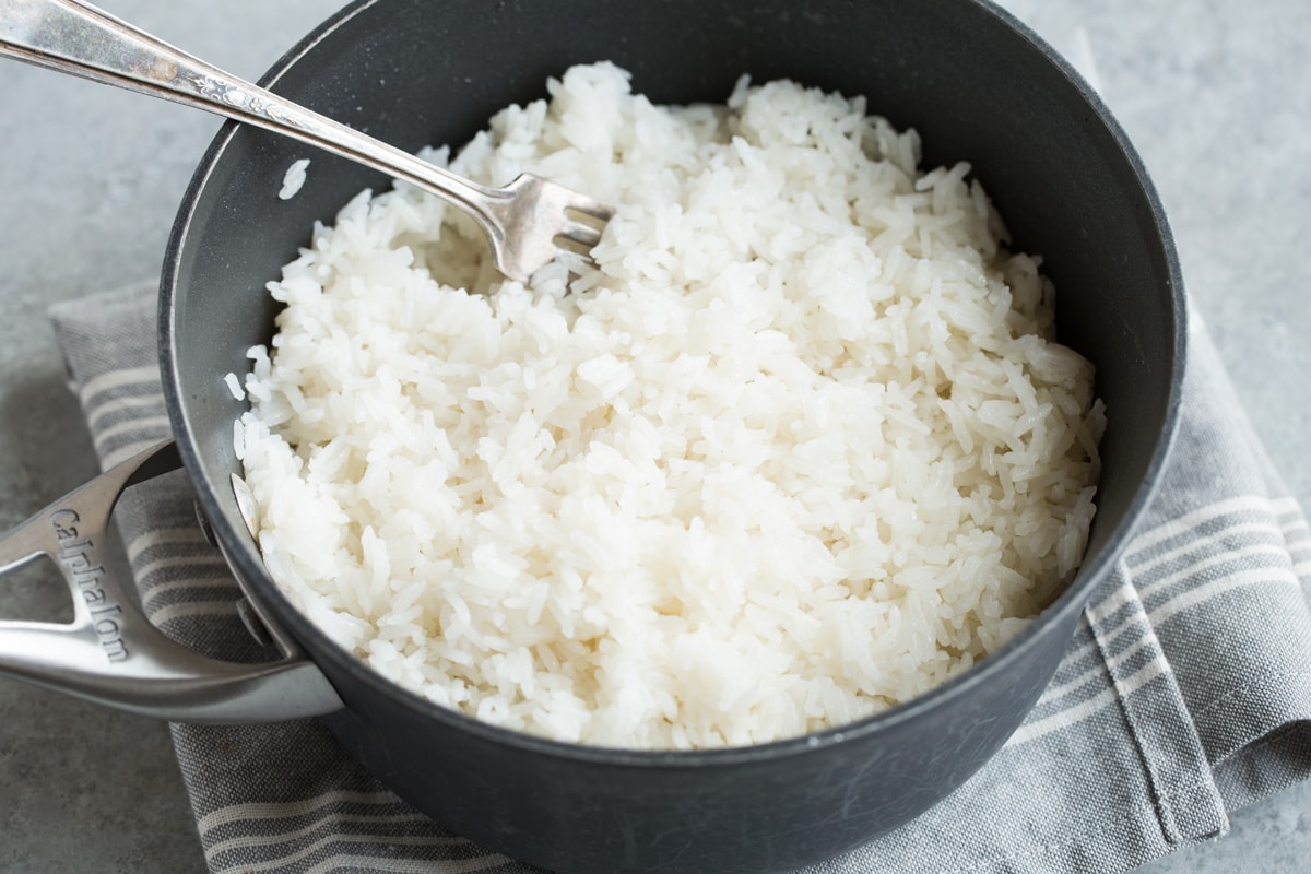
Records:
{"label": "whole silver fork with ornate handle resting in the rice", "polygon": [[405,180],[468,212],[497,269],[527,280],[586,253],[614,210],[536,176],[494,189],[443,170],[223,72],[80,0],[0,0],[0,55],[205,109]]}

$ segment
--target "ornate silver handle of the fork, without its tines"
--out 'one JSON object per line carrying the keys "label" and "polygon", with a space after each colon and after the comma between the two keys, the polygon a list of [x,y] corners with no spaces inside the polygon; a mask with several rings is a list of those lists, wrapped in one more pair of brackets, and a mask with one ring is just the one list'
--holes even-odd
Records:
{"label": "ornate silver handle of the fork, without its tines", "polygon": [[503,246],[511,195],[471,182],[282,100],[80,0],[0,0],[0,55],[161,97],[291,136],[405,180],[468,211]]}

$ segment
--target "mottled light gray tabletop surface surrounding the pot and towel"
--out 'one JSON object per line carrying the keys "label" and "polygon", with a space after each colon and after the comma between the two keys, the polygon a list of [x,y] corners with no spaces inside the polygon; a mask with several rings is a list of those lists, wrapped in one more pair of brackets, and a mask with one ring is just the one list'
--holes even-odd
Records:
{"label": "mottled light gray tabletop surface surrounding the pot and towel", "polygon": [[[257,77],[337,0],[102,0]],[[1184,278],[1248,413],[1311,507],[1311,4],[1006,0],[1097,80],[1160,190]],[[439,47],[434,47],[434,51]],[[1092,60],[1089,67],[1088,62]],[[0,531],[96,472],[46,307],[151,278],[218,119],[0,62]],[[0,617],[58,590],[0,583]],[[1311,786],[1145,871],[1311,866]],[[0,871],[205,870],[165,727],[0,680]]]}

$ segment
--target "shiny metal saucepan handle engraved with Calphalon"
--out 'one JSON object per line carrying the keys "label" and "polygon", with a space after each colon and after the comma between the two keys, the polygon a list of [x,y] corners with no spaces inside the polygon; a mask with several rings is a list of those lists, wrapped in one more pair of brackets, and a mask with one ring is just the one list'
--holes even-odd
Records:
{"label": "shiny metal saucepan handle engraved with Calphalon", "polygon": [[102,473],[0,537],[0,575],[49,557],[73,594],[73,621],[0,621],[0,675],[176,722],[271,722],[342,706],[284,634],[282,659],[233,664],[165,637],[105,566],[109,518],[125,489],[181,466],[161,443]]}

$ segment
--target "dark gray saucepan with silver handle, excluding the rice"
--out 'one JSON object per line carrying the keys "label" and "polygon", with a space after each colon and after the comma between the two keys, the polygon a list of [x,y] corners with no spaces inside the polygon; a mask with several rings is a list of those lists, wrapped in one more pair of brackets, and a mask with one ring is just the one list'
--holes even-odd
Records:
{"label": "dark gray saucepan with silver handle, excluding the rice", "polygon": [[[1097,516],[1072,583],[1013,642],[885,713],[805,738],[694,752],[545,740],[437,706],[338,649],[270,580],[231,477],[224,385],[269,342],[265,284],[316,220],[376,172],[326,155],[290,200],[305,147],[228,124],[199,162],[164,261],[163,385],[174,443],[56,502],[0,546],[46,553],[76,592],[72,625],[0,625],[0,671],[135,713],[197,722],[321,717],[351,755],[440,824],[552,870],[784,870],[919,815],[1024,719],[1152,495],[1176,425],[1184,299],[1169,231],[1130,143],[1046,45],[981,0],[362,0],[291,50],[264,84],[404,149],[459,144],[572,64],[612,60],[661,104],[722,100],[742,73],[864,94],[915,127],[924,166],[968,160],[1017,248],[1058,288],[1058,334],[1097,368],[1109,425]],[[185,466],[281,656],[199,658],[163,638],[100,556],[123,487]]]}

